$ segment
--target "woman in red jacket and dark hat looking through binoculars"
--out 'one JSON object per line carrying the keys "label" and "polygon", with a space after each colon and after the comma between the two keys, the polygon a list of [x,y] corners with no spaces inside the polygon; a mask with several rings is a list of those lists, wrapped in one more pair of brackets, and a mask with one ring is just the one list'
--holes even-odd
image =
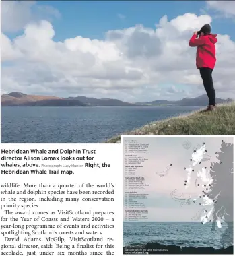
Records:
{"label": "woman in red jacket and dark hat looking through binoculars", "polygon": [[211,26],[205,24],[200,31],[194,32],[189,40],[189,46],[197,46],[196,66],[200,70],[201,78],[209,98],[208,111],[215,109],[215,88],[213,86],[212,71],[215,67],[215,44],[217,34],[211,34]]}

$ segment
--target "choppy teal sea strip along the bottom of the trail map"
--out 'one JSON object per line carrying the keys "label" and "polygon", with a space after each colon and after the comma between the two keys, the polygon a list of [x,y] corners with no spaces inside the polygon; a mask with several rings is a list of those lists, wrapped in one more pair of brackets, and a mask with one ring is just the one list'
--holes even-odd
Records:
{"label": "choppy teal sea strip along the bottom of the trail map", "polygon": [[157,242],[179,247],[220,249],[224,247],[222,241],[225,240],[228,245],[233,245],[233,222],[224,222],[222,228],[216,225],[213,231],[211,226],[211,223],[201,222],[123,222],[123,246]]}

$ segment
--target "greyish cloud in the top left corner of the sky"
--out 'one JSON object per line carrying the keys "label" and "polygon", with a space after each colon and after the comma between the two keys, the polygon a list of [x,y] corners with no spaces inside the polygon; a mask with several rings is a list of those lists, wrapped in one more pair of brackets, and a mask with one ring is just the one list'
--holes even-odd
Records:
{"label": "greyish cloud in the top left corner of the sky", "polygon": [[18,32],[28,22],[51,17],[59,18],[59,11],[48,5],[36,5],[36,1],[3,1],[1,3],[3,32]]}

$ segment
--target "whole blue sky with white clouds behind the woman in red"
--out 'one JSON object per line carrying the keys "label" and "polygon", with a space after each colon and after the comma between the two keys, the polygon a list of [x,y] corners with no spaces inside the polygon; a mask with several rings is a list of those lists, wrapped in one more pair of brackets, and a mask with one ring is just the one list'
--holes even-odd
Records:
{"label": "whole blue sky with white clouds behind the woman in red", "polygon": [[189,39],[206,23],[217,97],[235,99],[235,1],[1,1],[1,94],[200,96]]}

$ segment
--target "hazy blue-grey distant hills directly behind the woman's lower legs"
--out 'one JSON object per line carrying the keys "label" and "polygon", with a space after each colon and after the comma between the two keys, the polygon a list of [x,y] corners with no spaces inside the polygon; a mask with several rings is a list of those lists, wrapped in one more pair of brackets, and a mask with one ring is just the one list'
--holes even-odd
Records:
{"label": "hazy blue-grey distant hills directly behind the woman's lower legs", "polygon": [[[216,103],[226,103],[226,102],[232,102],[234,100],[228,98],[226,100],[223,100],[222,98],[216,98]],[[143,102],[143,103],[137,103],[142,105],[152,105],[152,106],[160,106],[160,105],[174,105],[174,106],[207,106],[208,105],[208,97],[207,95],[201,95],[196,98],[183,98],[182,100],[154,100],[151,102]]]}

